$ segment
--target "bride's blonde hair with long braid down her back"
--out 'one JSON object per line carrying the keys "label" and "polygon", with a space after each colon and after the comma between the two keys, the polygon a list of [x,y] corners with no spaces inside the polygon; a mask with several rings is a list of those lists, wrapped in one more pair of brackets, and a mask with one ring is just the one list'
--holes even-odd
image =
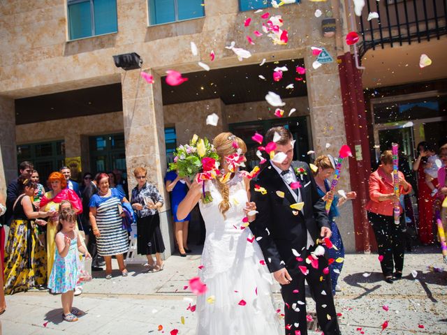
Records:
{"label": "bride's blonde hair with long braid down her back", "polygon": [[[212,142],[212,144],[214,145],[214,148],[216,149],[216,152],[220,157],[220,166],[223,166],[223,163],[225,163],[226,156],[235,154],[235,152],[237,151],[237,149],[233,147],[233,142],[237,143],[237,146],[242,149],[243,154],[247,152],[247,145],[245,144],[245,142],[232,133],[220,133],[219,135],[214,137],[214,141]],[[230,190],[228,188],[228,184],[222,183],[219,177],[216,179],[216,181],[217,188],[222,195],[222,201],[219,204],[219,210],[225,218],[226,211],[228,211],[228,209],[230,209],[231,207],[229,198]]]}

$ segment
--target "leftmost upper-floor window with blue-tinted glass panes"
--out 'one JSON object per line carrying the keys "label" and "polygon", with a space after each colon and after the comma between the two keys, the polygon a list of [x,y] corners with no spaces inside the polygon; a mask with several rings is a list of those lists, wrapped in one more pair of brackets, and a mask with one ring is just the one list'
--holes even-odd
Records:
{"label": "leftmost upper-floor window with blue-tinted glass panes", "polygon": [[68,0],[71,40],[118,31],[116,0]]}

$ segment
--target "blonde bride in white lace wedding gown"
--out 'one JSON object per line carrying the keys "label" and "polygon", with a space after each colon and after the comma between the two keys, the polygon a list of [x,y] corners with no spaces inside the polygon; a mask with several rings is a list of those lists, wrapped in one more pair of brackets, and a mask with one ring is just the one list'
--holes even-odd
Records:
{"label": "blonde bride in white lace wedding gown", "polygon": [[[230,171],[228,163],[232,160],[229,157],[234,161],[232,155],[237,152],[240,155],[236,161],[247,161],[244,156],[247,146],[232,133],[217,135],[213,145],[220,157],[223,174]],[[203,181],[205,192],[212,195],[212,201],[207,204],[200,200],[203,185],[195,178],[177,209],[177,218],[182,219],[200,201],[206,226],[203,267],[199,276],[207,285],[207,292],[197,298],[196,334],[281,334],[283,331],[270,290],[272,277],[265,265],[268,260],[264,260],[261,248],[247,227],[255,218],[247,217],[247,214],[256,209],[256,204],[249,202],[248,179],[237,168],[234,171],[226,183],[219,177]]]}

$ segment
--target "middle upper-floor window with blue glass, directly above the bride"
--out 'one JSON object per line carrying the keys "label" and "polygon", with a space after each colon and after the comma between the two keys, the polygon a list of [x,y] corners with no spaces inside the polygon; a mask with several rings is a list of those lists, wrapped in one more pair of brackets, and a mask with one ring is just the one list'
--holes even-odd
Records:
{"label": "middle upper-floor window with blue glass, directly above the bride", "polygon": [[163,24],[204,17],[203,0],[148,0],[149,24]]}

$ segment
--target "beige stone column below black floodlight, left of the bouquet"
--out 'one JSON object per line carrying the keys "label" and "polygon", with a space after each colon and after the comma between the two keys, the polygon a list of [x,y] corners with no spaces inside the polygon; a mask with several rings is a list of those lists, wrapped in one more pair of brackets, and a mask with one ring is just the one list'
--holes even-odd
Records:
{"label": "beige stone column below black floodlight, left of the bouquet", "polygon": [[147,169],[147,180],[159,189],[165,205],[160,209],[161,233],[166,246],[165,257],[173,251],[173,232],[168,193],[163,177],[166,174],[166,146],[161,100],[161,79],[154,75],[154,84],[147,84],[139,70],[122,74],[124,137],[129,194],[135,187],[133,169]]}

